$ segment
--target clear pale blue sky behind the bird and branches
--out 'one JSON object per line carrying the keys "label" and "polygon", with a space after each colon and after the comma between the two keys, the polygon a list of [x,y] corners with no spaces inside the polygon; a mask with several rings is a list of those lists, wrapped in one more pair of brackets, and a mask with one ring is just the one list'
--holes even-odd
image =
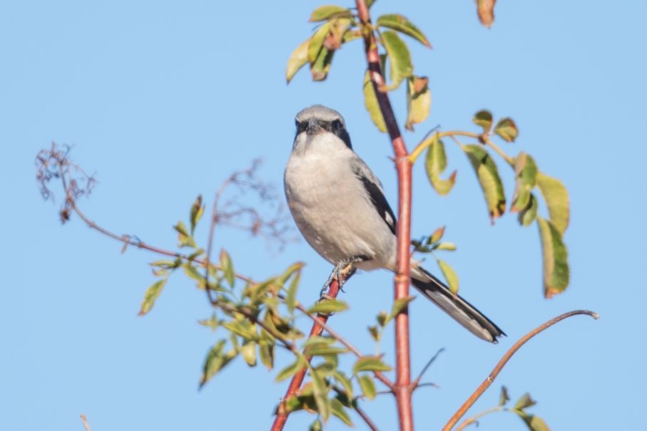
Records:
{"label": "clear pale blue sky behind the bird and branches", "polygon": [[[573,318],[541,334],[472,412],[495,405],[504,384],[513,398],[530,391],[539,401],[532,411],[554,430],[637,427],[647,385],[646,3],[499,1],[491,30],[478,24],[473,3],[375,5],[375,14],[409,16],[434,46],[412,50],[417,71],[430,78],[433,103],[427,123],[405,139],[411,146],[437,124],[471,128],[481,108],[512,116],[520,136],[506,150],[530,152],[569,188],[572,284],[564,295],[542,298],[536,227],[522,229],[511,216],[491,227],[471,167],[455,148],[449,165],[459,176],[449,197],[434,194],[417,166],[414,232],[447,224],[447,239],[459,246],[447,259],[462,294],[509,336],[491,346],[431,304],[414,302],[414,370],[447,348],[428,373],[442,388],[415,395],[418,429],[438,429],[519,336],[573,308],[591,308],[601,319]],[[325,83],[300,73],[285,85],[285,61],[310,34],[306,20],[319,4],[0,6],[1,430],[82,430],[80,413],[95,431],[268,428],[285,384],[237,362],[198,392],[215,340],[196,323],[210,313],[203,294],[175,277],[153,312],[138,318],[155,256],[119,254],[118,244],[76,217],[61,226],[57,207],[39,195],[34,155],[52,140],[76,145],[73,157],[100,181],[83,202],[86,212],[120,234],[172,247],[170,227],[186,217],[195,195],[212,196],[252,157],[265,157],[263,176],[280,185],[295,113],[322,103],[345,115],[355,149],[394,203],[391,148],[363,108],[360,41],[338,53]],[[404,120],[404,95],[395,93],[393,102]],[[501,170],[510,195],[511,175]],[[316,298],[329,271],[304,242],[276,254],[247,234],[222,231],[217,243],[257,279],[307,261],[302,301]],[[390,307],[391,280],[382,271],[357,276],[344,296],[352,311],[332,319],[367,352],[365,327]],[[390,334],[384,346],[390,350]],[[394,429],[392,400],[365,407],[382,430]],[[302,430],[309,420],[295,415],[287,429]],[[342,427],[332,420],[328,429]],[[524,425],[499,414],[480,429]]]}

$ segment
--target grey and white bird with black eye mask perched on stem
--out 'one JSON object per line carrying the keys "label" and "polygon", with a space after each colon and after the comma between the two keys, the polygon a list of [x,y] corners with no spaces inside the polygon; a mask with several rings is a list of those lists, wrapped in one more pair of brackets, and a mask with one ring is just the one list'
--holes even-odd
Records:
{"label": "grey and white bird with black eye mask perched on stem", "polygon": [[[287,206],[306,242],[335,265],[337,276],[348,266],[352,271],[395,272],[396,217],[382,183],[353,150],[342,115],[312,105],[297,113],[295,125],[283,182]],[[414,288],[464,328],[491,343],[505,335],[417,261],[411,262]]]}

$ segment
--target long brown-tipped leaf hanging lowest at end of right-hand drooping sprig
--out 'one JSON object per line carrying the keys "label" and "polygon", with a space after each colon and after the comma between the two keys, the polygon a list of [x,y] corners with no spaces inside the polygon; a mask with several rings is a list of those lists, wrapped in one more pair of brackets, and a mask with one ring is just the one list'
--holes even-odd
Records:
{"label": "long brown-tipped leaf hanging lowest at end of right-hand drooping sprig", "polygon": [[544,296],[561,294],[569,286],[569,256],[559,230],[550,220],[537,217],[544,254]]}

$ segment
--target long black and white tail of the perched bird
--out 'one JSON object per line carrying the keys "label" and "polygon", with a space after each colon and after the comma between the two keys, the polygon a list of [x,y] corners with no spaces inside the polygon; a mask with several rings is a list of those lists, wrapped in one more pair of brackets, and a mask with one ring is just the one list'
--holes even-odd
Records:
{"label": "long black and white tail of the perched bird", "polygon": [[412,268],[411,284],[433,303],[452,316],[469,332],[491,343],[498,343],[497,337],[506,335],[483,313],[460,296],[452,294],[445,284],[429,274],[422,266]]}

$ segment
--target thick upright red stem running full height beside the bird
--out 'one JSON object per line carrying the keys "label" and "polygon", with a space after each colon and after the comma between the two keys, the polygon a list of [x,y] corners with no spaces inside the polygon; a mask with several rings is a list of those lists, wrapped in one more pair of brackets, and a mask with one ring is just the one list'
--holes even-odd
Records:
{"label": "thick upright red stem running full height beside the bird", "polygon": [[[397,270],[394,281],[395,299],[409,296],[409,242],[411,241],[411,170],[409,158],[389,96],[380,90],[385,84],[379,67],[379,53],[375,33],[365,0],[356,0],[357,14],[362,21],[364,46],[370,77],[377,95],[379,110],[391,138],[395,154],[398,181],[398,224],[397,224]],[[409,349],[409,308],[404,307],[395,318],[396,380],[394,393],[397,402],[400,431],[413,430],[411,403],[411,366]]]}

